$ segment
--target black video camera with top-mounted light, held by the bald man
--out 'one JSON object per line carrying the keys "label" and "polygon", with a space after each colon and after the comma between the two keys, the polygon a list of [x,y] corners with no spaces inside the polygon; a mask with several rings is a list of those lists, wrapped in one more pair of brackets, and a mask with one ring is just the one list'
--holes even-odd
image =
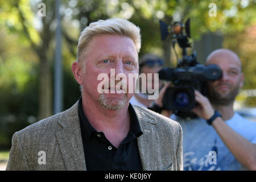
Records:
{"label": "black video camera with top-mounted light, held by the bald man", "polygon": [[177,42],[182,49],[182,59],[178,61],[177,68],[164,67],[159,71],[161,80],[171,81],[174,85],[167,88],[166,93],[164,93],[163,107],[174,111],[176,115],[182,118],[196,117],[191,111],[197,104],[195,89],[206,96],[206,81],[215,81],[222,76],[218,65],[210,64],[205,67],[205,65],[197,63],[196,52],[187,55],[187,48],[191,47],[188,42],[188,38],[191,38],[189,26],[190,19],[185,22],[185,26],[181,22],[174,22],[171,26],[168,26],[160,20],[162,40],[171,34],[173,35],[172,39],[175,39],[173,46]]}

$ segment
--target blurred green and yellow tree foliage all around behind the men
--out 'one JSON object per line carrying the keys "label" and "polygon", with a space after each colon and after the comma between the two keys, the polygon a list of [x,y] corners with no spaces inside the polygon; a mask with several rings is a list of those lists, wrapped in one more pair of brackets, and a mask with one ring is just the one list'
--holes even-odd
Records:
{"label": "blurred green and yellow tree foliage all around behind the men", "polygon": [[[40,1],[0,1],[0,148],[10,147],[15,131],[38,121],[40,59],[49,61],[52,74],[56,23],[54,1],[46,3],[46,17],[37,15]],[[80,97],[79,85],[73,78],[71,64],[76,60],[77,40],[90,22],[106,18],[126,18],[141,28],[142,48],[163,55],[159,20],[171,24],[191,18],[193,39],[205,32],[221,32],[224,47],[237,52],[245,73],[244,89],[256,88],[255,25],[253,0],[175,1],[175,0],[63,0],[63,86],[64,109]],[[217,6],[217,16],[209,16],[209,3]],[[16,6],[18,3],[18,6]],[[20,19],[20,11],[24,20]],[[71,13],[70,13],[71,12]],[[24,26],[27,31],[24,31]],[[43,27],[45,26],[45,27]],[[49,32],[44,32],[48,28]],[[40,52],[38,50],[44,52]],[[53,81],[52,81],[53,82]],[[52,87],[53,88],[53,87]],[[51,90],[53,90],[51,88]],[[255,106],[255,97],[240,97]]]}

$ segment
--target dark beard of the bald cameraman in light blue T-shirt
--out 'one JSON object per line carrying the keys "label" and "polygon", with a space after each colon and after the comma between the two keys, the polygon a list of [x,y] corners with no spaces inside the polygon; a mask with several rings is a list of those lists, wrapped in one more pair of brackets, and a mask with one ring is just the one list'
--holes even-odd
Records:
{"label": "dark beard of the bald cameraman in light blue T-shirt", "polygon": [[213,88],[210,88],[208,85],[208,98],[210,102],[214,105],[230,105],[233,104],[238,92],[239,92],[240,86],[237,84],[233,88],[230,89],[229,93],[221,94],[218,93]]}

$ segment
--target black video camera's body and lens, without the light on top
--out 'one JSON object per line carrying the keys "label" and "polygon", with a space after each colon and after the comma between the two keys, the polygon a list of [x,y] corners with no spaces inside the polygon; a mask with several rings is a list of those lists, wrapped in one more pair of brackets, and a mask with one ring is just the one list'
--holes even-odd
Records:
{"label": "black video camera's body and lens, without the light on top", "polygon": [[195,89],[207,95],[207,81],[221,77],[221,69],[215,65],[196,64],[187,68],[167,68],[159,71],[161,80],[171,81],[174,86],[167,88],[163,97],[163,106],[177,115],[192,117],[190,112],[196,106]]}

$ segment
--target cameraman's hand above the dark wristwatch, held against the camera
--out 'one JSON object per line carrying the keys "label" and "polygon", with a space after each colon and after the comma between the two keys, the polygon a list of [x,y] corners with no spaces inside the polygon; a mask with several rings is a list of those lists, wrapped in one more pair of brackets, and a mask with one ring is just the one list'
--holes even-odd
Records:
{"label": "cameraman's hand above the dark wristwatch, held against the camera", "polygon": [[214,109],[207,97],[203,96],[199,91],[195,90],[195,99],[199,104],[192,109],[199,117],[208,120],[214,114]]}

